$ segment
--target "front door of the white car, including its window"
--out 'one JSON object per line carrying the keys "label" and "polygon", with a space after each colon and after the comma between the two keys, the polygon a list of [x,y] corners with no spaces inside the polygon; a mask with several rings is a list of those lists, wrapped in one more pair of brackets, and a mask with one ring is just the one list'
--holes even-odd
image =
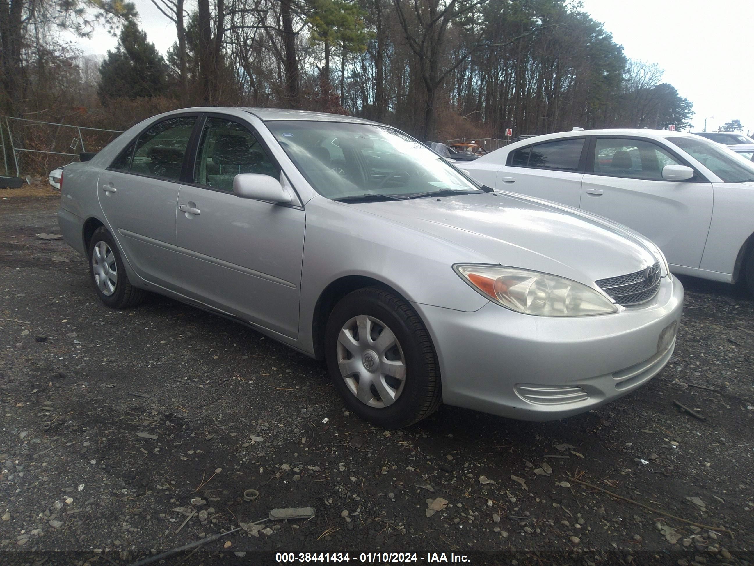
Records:
{"label": "front door of the white car, including its window", "polygon": [[691,167],[654,140],[595,137],[581,208],[645,235],[668,263],[698,268],[712,220],[713,187],[698,172],[691,180],[664,180],[665,165]]}

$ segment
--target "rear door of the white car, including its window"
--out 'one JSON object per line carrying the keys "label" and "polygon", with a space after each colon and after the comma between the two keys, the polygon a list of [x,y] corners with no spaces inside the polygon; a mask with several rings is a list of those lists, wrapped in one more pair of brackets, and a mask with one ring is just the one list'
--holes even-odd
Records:
{"label": "rear door of the white car, including its window", "polygon": [[515,149],[495,186],[578,208],[586,147],[586,138],[567,137]]}

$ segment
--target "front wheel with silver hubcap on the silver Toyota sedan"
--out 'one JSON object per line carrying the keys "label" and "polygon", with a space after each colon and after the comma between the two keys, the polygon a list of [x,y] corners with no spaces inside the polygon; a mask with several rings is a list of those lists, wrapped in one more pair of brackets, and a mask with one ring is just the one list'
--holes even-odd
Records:
{"label": "front wheel with silver hubcap on the silver Toyota sedan", "polygon": [[363,288],[336,304],[325,328],[325,360],[348,409],[377,426],[412,425],[442,402],[427,328],[388,291]]}

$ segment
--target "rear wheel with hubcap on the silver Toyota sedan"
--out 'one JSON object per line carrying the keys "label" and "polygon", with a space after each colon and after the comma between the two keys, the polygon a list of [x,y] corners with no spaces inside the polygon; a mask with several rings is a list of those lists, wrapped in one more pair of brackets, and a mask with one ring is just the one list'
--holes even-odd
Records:
{"label": "rear wheel with hubcap on the silver Toyota sedan", "polygon": [[97,297],[112,309],[127,309],[144,299],[145,291],[131,285],[115,239],[104,226],[89,241],[89,273]]}

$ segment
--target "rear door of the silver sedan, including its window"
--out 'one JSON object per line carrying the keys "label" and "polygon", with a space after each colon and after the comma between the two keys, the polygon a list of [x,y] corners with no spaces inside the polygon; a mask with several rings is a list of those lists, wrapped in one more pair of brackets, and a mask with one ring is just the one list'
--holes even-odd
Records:
{"label": "rear door of the silver sedan, including its window", "polygon": [[176,290],[176,207],[186,149],[198,115],[151,125],[100,174],[100,198],[110,232],[146,281]]}

